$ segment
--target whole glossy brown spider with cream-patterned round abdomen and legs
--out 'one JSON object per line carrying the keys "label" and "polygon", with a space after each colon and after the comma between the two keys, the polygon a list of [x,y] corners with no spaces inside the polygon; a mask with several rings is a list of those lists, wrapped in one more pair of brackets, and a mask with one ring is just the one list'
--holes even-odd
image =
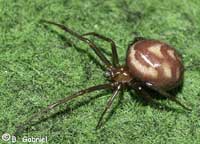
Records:
{"label": "whole glossy brown spider with cream-patterned round abdomen and legs", "polygon": [[[153,100],[147,91],[147,89],[151,89],[159,93],[161,96],[174,101],[184,109],[191,110],[168,92],[180,86],[183,81],[184,73],[181,56],[170,45],[158,40],[137,37],[128,47],[125,65],[120,65],[116,45],[112,39],[95,32],[81,35],[62,24],[47,20],[42,20],[42,22],[55,25],[88,44],[105,65],[109,83],[95,85],[58,100],[57,102],[50,104],[47,108],[32,115],[25,124],[30,122],[39,114],[48,112],[61,104],[71,101],[72,99],[90,92],[104,89],[113,90],[113,94],[108,99],[96,128],[101,127],[104,115],[110,109],[120,90],[124,88],[134,89],[139,95],[143,96],[147,100]],[[86,36],[89,35],[111,44],[112,63],[91,40],[86,38]]]}

